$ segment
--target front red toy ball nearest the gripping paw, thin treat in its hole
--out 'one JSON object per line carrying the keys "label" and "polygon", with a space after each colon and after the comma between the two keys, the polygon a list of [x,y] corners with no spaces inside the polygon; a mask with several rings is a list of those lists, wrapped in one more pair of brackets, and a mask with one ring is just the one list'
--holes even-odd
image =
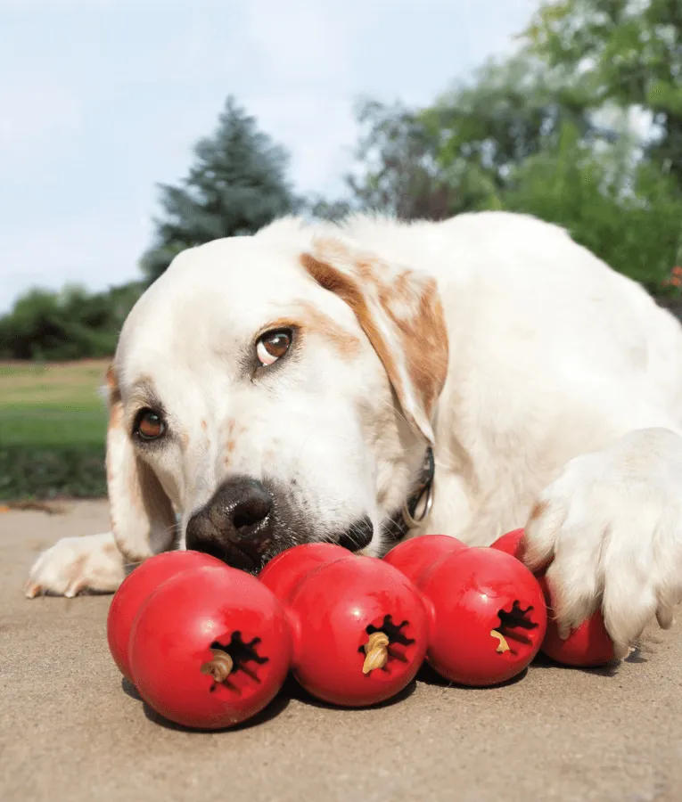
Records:
{"label": "front red toy ball nearest the gripping paw, thin treat in its hole", "polygon": [[427,659],[447,679],[484,686],[518,675],[535,658],[546,632],[538,581],[505,552],[468,548],[427,572]]}

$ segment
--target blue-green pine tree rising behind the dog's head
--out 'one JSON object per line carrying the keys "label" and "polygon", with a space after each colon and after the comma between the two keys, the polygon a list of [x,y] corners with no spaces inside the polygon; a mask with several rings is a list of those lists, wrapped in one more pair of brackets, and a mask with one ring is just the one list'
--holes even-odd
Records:
{"label": "blue-green pine tree rising behind the dog's head", "polygon": [[149,282],[185,248],[254,233],[300,207],[286,178],[287,152],[232,96],[215,133],[201,139],[193,153],[195,163],[179,186],[160,184],[164,214],[155,219],[155,242],[142,258]]}

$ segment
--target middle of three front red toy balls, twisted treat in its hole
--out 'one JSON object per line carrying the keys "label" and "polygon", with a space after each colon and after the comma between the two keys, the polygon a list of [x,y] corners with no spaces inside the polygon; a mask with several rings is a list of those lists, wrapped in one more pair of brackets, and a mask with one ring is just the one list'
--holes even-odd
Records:
{"label": "middle of three front red toy balls, twisted treat in its hole", "polygon": [[[308,559],[305,546],[289,551],[292,569],[299,554]],[[423,601],[406,577],[381,560],[349,554],[309,570],[286,609],[293,675],[317,699],[344,707],[377,704],[402,691],[423,662]]]}

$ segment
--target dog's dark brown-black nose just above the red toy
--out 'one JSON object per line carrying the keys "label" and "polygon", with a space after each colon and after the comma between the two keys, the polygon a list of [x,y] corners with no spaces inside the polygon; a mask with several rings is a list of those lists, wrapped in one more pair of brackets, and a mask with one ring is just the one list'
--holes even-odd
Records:
{"label": "dog's dark brown-black nose just above the red toy", "polygon": [[262,482],[228,479],[187,524],[188,549],[207,552],[234,568],[255,571],[272,538],[273,498]]}

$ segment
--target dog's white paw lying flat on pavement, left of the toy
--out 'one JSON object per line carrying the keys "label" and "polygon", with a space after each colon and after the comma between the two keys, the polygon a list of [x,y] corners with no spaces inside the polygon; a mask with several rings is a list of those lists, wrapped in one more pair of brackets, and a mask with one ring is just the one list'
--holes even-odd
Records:
{"label": "dog's white paw lying flat on pavement, left of the toy", "polygon": [[84,591],[113,593],[125,577],[123,556],[113,535],[63,537],[43,552],[30,570],[25,593],[72,597]]}

